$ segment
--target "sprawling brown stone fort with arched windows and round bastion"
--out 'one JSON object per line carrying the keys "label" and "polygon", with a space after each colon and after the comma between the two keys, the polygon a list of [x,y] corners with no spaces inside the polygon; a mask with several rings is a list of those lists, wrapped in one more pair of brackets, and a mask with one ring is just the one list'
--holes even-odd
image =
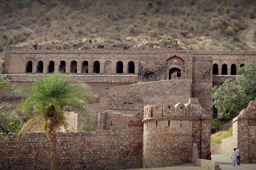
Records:
{"label": "sprawling brown stone fort with arched windows and round bastion", "polygon": [[[176,41],[142,47],[35,44],[7,47],[3,74],[12,83],[31,85],[29,78],[43,71],[62,71],[99,95],[88,106],[91,120],[76,113],[71,118],[75,131],[90,125],[95,132],[59,133],[61,169],[162,167],[191,160],[193,143],[205,158],[212,87],[235,79],[238,68],[252,58],[256,51],[187,51]],[[1,90],[0,99],[19,103],[22,96],[9,90]],[[48,168],[49,145],[41,132],[14,136],[0,141],[2,167]]]}

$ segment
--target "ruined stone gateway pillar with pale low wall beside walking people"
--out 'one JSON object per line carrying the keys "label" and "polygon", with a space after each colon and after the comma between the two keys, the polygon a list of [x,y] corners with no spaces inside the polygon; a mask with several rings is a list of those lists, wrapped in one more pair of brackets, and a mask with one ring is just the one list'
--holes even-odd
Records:
{"label": "ruined stone gateway pillar with pale low wall beside walking people", "polygon": [[232,149],[238,147],[242,151],[241,162],[256,164],[256,101],[251,101],[246,109],[233,119],[233,136],[222,140],[221,144],[213,144],[213,154],[230,156]]}

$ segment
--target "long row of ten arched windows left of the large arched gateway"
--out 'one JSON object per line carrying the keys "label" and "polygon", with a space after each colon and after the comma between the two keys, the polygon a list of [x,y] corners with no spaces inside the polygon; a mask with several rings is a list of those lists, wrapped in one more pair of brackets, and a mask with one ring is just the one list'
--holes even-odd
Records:
{"label": "long row of ten arched windows left of the large arched gateway", "polygon": [[[33,63],[32,61],[28,61],[26,65],[26,72],[32,72]],[[99,61],[93,62],[93,70],[92,73],[99,73],[100,72],[100,63]],[[37,73],[43,72],[44,62],[39,61],[37,64]],[[47,72],[53,73],[55,69],[54,61],[50,61],[47,65]],[[81,73],[88,73],[89,63],[88,61],[83,61],[81,65]],[[59,72],[66,72],[66,62],[64,60],[60,61],[59,63]],[[112,73],[112,63],[111,61],[106,61],[104,64],[104,73]],[[124,72],[124,63],[122,61],[117,61],[116,63],[116,73],[123,73]],[[77,73],[77,61],[71,61],[70,63],[70,73]],[[135,65],[133,61],[129,61],[127,64],[127,73],[135,73]]]}

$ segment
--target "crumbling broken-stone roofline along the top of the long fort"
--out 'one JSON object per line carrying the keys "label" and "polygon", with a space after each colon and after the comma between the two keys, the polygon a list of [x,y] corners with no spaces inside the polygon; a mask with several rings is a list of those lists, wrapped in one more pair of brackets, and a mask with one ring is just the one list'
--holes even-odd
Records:
{"label": "crumbling broken-stone roofline along the top of the long fort", "polygon": [[176,40],[167,40],[161,43],[148,43],[147,45],[142,45],[137,47],[136,45],[127,44],[117,44],[117,45],[104,45],[104,44],[85,44],[82,42],[68,45],[64,43],[63,45],[22,45],[22,46],[7,46],[9,50],[93,50],[93,49],[104,49],[104,50],[147,50],[150,48],[170,48],[171,50],[181,50],[178,47],[178,42]]}

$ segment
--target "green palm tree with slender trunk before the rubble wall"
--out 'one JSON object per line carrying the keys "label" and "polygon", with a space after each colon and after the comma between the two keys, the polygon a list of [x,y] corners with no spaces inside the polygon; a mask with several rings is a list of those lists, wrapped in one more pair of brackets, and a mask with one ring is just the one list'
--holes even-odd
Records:
{"label": "green palm tree with slender trunk before the rubble wall", "polygon": [[57,170],[56,131],[63,125],[67,130],[65,111],[72,109],[85,114],[88,100],[94,101],[97,97],[88,90],[86,83],[68,83],[69,76],[61,73],[47,76],[44,72],[43,79],[34,80],[28,97],[20,105],[21,111],[28,115],[29,119],[17,135],[28,132],[34,125],[42,126],[49,137],[51,170]]}

